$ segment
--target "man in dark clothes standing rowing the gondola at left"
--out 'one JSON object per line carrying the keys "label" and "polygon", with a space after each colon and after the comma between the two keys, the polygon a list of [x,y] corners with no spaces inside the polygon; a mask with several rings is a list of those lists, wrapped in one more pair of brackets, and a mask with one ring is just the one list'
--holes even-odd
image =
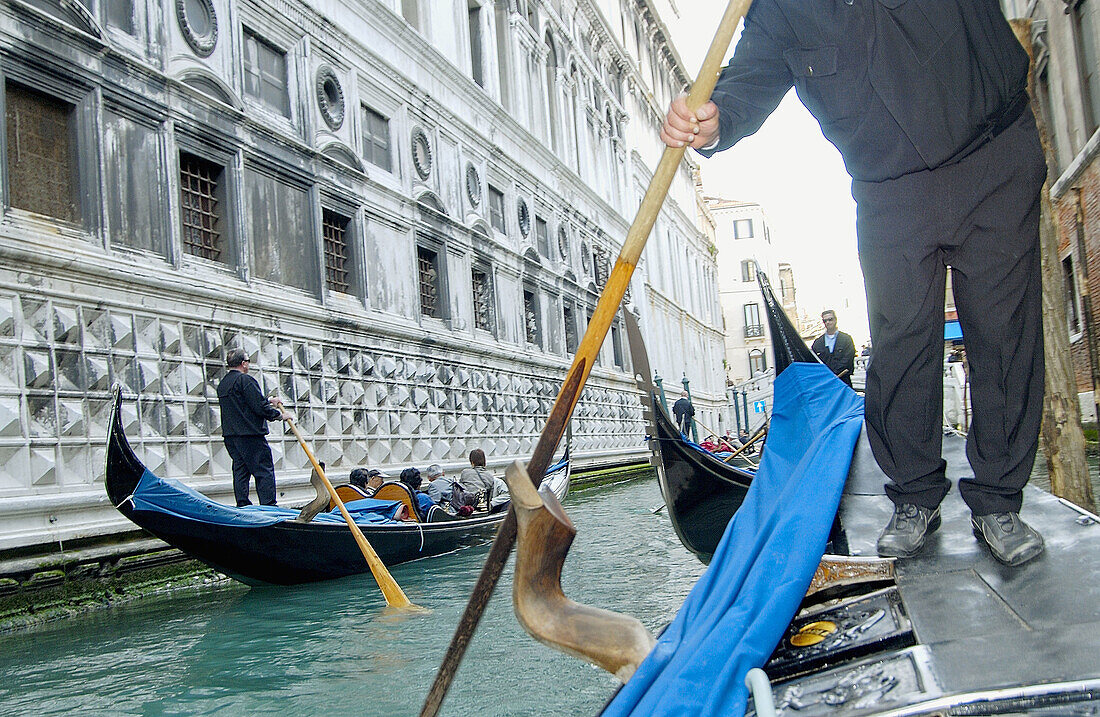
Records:
{"label": "man in dark clothes standing rowing the gondola at left", "polygon": [[233,459],[233,495],[237,506],[252,505],[249,483],[256,478],[260,505],[275,505],[275,462],[267,445],[267,421],[287,413],[278,398],[267,399],[260,384],[249,375],[249,356],[243,349],[232,349],[226,356],[229,371],[218,384],[221,406],[221,437]]}

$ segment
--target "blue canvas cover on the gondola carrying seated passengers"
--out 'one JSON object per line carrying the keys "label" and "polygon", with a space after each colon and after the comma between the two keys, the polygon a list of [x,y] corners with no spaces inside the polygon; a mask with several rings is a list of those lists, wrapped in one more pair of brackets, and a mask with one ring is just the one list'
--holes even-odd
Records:
{"label": "blue canvas cover on the gondola carrying seated passengers", "polygon": [[[148,470],[138,482],[138,487],[130,500],[133,501],[135,510],[153,510],[217,526],[261,527],[298,517],[297,510],[279,508],[278,506],[234,508],[216,503],[179,481],[161,478]],[[348,508],[348,512],[351,514],[355,523],[360,526],[399,525],[399,521],[393,518],[400,505],[396,500],[362,498],[348,503],[344,507]],[[310,522],[345,525],[339,508],[330,512],[322,512]]]}

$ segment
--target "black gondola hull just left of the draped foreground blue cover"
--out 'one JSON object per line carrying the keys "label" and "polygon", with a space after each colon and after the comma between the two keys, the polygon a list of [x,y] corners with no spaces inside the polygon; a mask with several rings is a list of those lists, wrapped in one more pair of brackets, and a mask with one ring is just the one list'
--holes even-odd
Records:
{"label": "black gondola hull just left of the draped foreground blue cover", "polygon": [[672,528],[685,548],[710,562],[729,517],[745,500],[754,470],[688,441],[652,393],[648,408],[651,463]]}

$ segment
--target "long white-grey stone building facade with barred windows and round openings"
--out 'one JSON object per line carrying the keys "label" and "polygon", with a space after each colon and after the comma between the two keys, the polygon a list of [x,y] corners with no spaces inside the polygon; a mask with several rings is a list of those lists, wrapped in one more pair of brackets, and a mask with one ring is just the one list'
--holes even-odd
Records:
{"label": "long white-grey stone building facade with barred windows and round openings", "polygon": [[[16,0],[0,11],[0,555],[132,528],[103,438],[224,499],[244,348],[338,479],[529,454],[686,84],[650,2]],[[724,399],[692,167],[625,310]],[[674,339],[664,340],[670,331]],[[717,348],[717,351],[716,351]],[[645,451],[613,327],[574,420]],[[282,499],[307,461],[273,424]]]}

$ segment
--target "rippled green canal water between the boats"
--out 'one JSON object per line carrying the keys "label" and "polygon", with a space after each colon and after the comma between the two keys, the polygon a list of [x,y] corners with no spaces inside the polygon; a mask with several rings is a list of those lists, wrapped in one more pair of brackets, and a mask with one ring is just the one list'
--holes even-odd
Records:
{"label": "rippled green canal water between the boats", "polygon": [[[652,479],[570,495],[565,594],[664,626],[703,566],[651,512],[660,503]],[[0,714],[415,715],[487,550],[392,571],[428,615],[387,610],[365,575],[147,599],[2,637]],[[594,714],[617,682],[527,637],[510,575],[509,564],[442,714]]]}

